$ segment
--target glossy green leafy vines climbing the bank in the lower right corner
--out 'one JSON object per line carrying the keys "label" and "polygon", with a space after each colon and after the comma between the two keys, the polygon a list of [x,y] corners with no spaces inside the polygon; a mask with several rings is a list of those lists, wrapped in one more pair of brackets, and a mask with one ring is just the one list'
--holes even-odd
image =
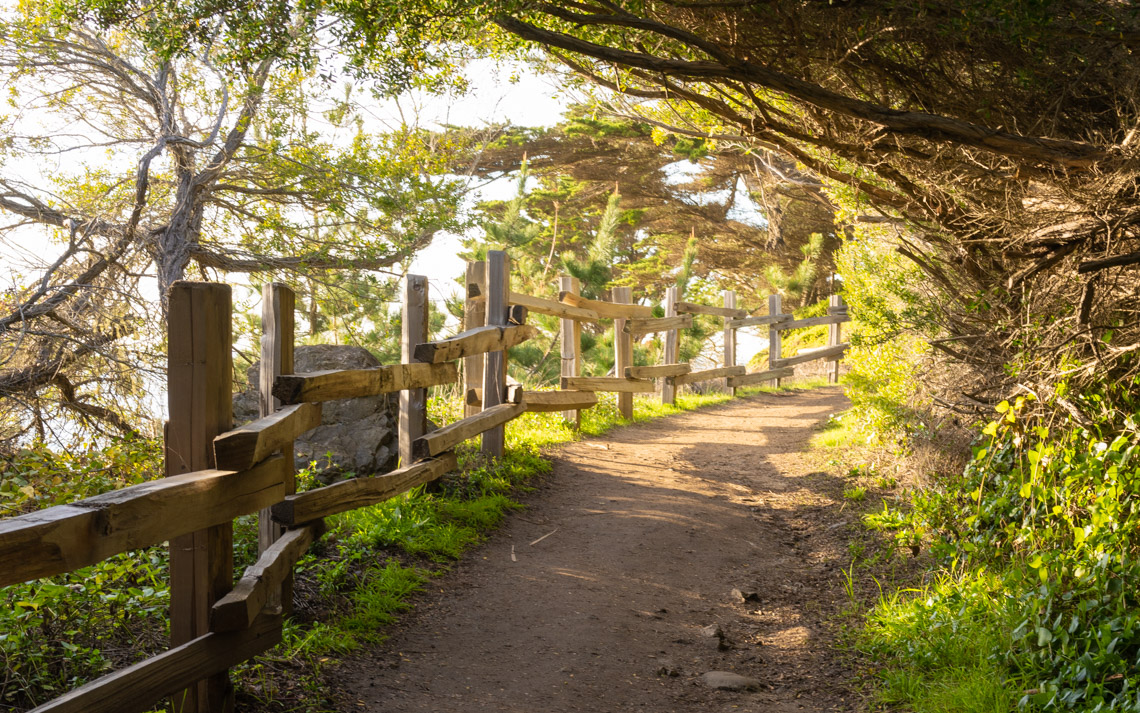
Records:
{"label": "glossy green leafy vines climbing the bank in the lower right corner", "polygon": [[[963,625],[955,599],[969,591],[963,582],[992,573],[979,599],[995,608],[994,635],[979,637],[990,650],[974,656],[974,670],[966,666],[970,676],[1020,681],[1015,690],[1027,691],[1018,698],[1028,710],[1134,711],[1140,437],[1134,429],[1108,440],[1083,428],[1051,431],[1026,421],[1028,400],[997,406],[963,473],[917,496],[907,516],[876,524],[896,527],[899,538],[926,538],[966,573],[927,600],[943,623],[918,622],[917,638]],[[882,608],[876,625],[893,626],[904,614]]]}

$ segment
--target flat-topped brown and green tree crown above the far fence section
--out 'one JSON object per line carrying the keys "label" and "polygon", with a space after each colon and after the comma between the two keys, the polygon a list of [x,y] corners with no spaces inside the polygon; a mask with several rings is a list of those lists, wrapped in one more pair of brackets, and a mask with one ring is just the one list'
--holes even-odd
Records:
{"label": "flat-topped brown and green tree crown above the far fence section", "polygon": [[[581,252],[616,189],[626,217],[619,227],[622,269],[616,277],[659,298],[673,283],[690,236],[700,244],[695,274],[715,275],[752,308],[774,290],[769,267],[795,269],[813,234],[828,236],[808,293],[825,290],[834,206],[819,181],[808,187],[767,170],[739,146],[660,130],[645,121],[572,107],[548,129],[507,127],[482,151],[480,173],[515,170],[526,156],[539,186],[527,211],[543,224],[539,250]],[[804,177],[800,177],[804,178]],[[743,305],[742,305],[743,306]]]}

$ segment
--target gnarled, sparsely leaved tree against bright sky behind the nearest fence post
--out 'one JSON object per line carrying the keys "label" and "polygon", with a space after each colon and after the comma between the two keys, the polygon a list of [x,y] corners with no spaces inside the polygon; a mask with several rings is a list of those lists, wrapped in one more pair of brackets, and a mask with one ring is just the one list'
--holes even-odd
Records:
{"label": "gnarled, sparsely leaved tree against bright sky behind the nearest fence post", "polygon": [[304,3],[207,9],[26,2],[0,21],[0,240],[24,254],[0,294],[0,440],[60,414],[138,428],[177,279],[302,275],[319,316],[459,227],[447,162],[473,135],[376,124]]}

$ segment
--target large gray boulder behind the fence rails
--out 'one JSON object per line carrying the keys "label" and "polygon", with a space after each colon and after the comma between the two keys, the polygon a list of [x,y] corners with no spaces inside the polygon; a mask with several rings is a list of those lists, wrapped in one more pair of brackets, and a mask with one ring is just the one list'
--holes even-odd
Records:
{"label": "large gray boulder behind the fence rails", "polygon": [[[380,362],[364,347],[315,345],[296,347],[293,370],[299,373],[341,368],[370,368]],[[254,363],[246,376],[251,388],[234,396],[234,423],[258,418],[258,378],[261,363]],[[339,471],[383,472],[396,467],[398,457],[397,395],[367,396],[326,402],[320,426],[295,443],[298,469],[317,461]]]}

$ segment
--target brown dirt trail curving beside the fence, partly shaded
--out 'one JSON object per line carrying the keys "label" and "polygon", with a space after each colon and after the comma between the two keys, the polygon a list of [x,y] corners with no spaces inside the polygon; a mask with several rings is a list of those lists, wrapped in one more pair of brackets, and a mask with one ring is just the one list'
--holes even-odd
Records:
{"label": "brown dirt trail curving beside the fence, partly shaded", "polygon": [[567,445],[526,511],[332,673],[340,710],[857,710],[826,623],[850,516],[803,453],[846,406],[762,395]]}

